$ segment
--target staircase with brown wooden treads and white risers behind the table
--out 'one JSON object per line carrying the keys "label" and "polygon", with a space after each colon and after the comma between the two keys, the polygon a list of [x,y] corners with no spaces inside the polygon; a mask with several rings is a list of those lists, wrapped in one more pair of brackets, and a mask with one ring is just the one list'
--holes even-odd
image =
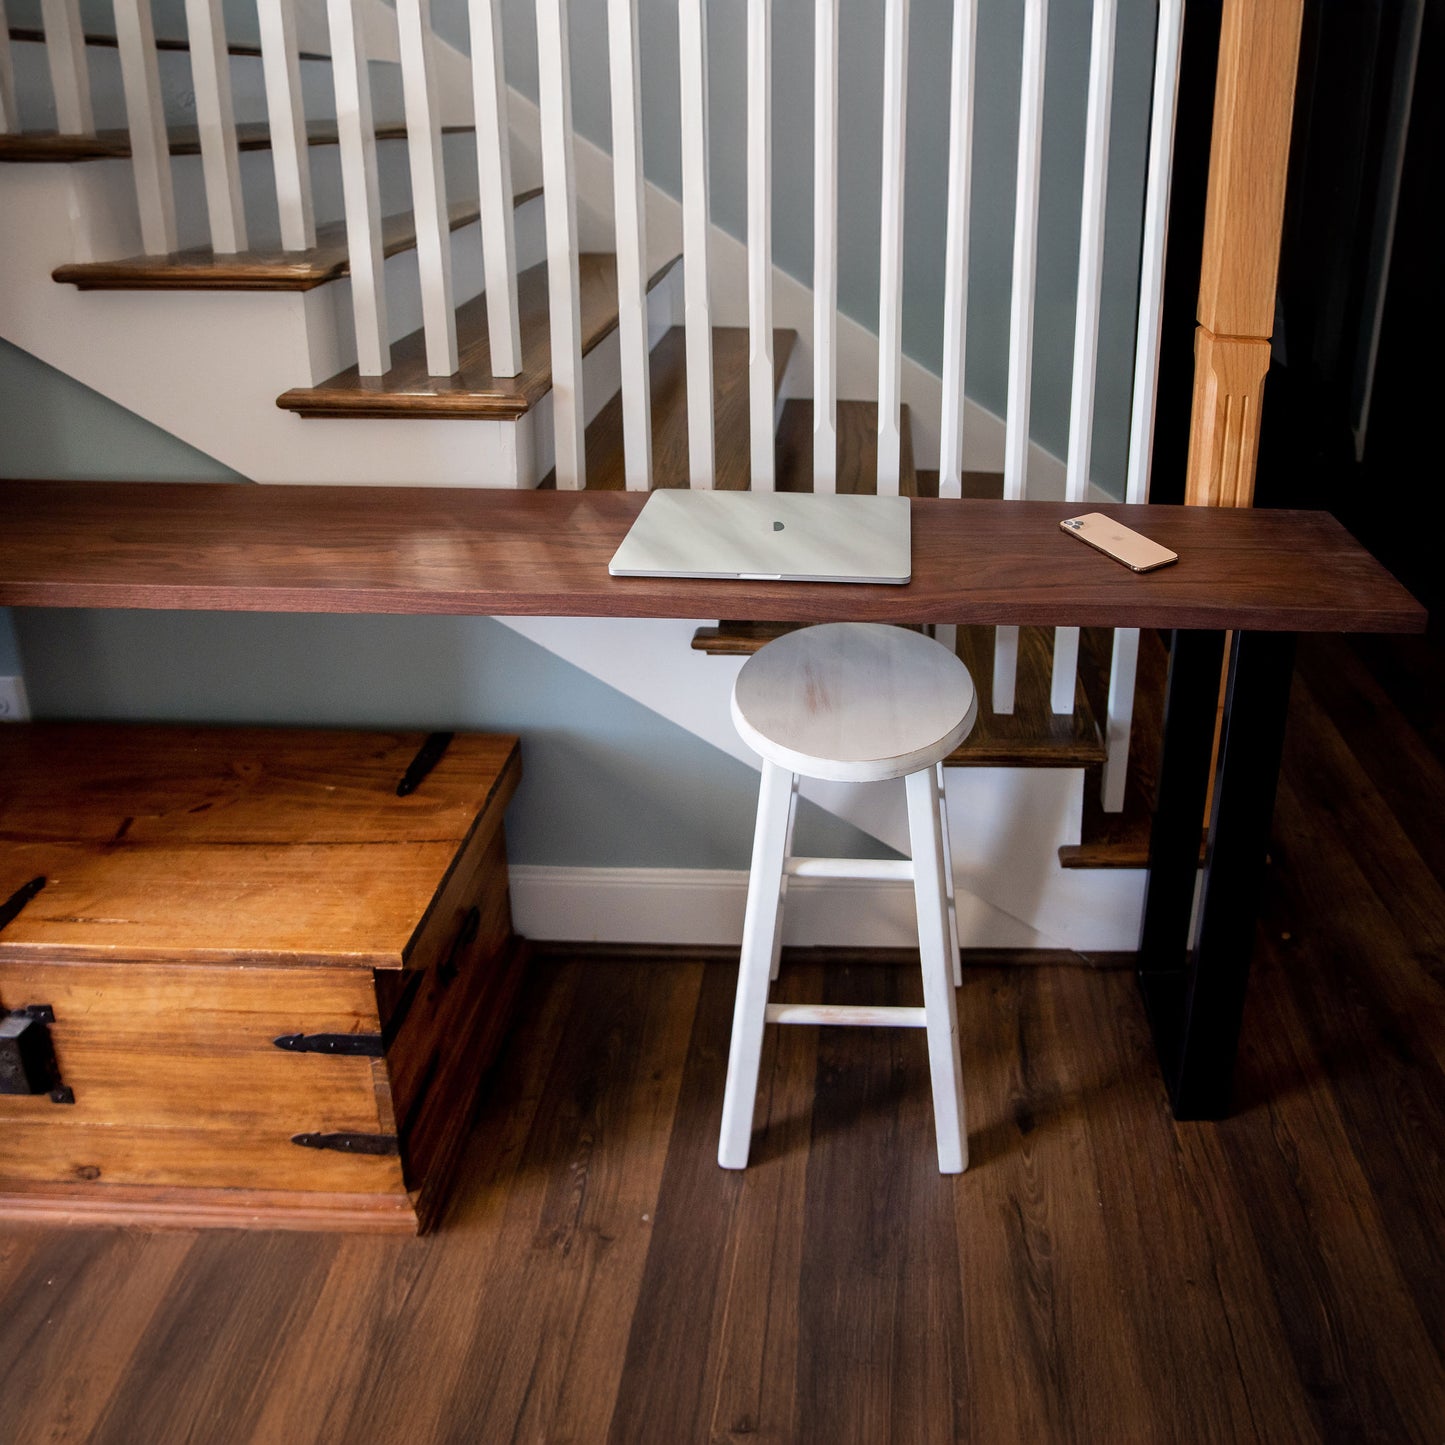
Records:
{"label": "staircase with brown wooden treads and white risers behind the table", "polygon": [[[117,16],[123,9],[117,4]],[[334,17],[348,9],[355,13],[353,0],[331,0]],[[614,6],[614,13],[626,10],[626,4]],[[636,23],[634,10],[633,19]],[[403,14],[403,52],[406,23]],[[311,29],[316,29],[315,23]],[[36,84],[33,72],[43,64],[42,40],[52,52],[61,40],[19,30],[10,40],[16,72],[32,77],[29,90],[20,88],[29,94]],[[91,40],[90,51],[113,43]],[[772,264],[760,270],[753,251],[743,251],[715,228],[709,234],[705,201],[698,228],[686,136],[681,207],[649,188],[646,237],[639,241],[642,228],[634,225],[637,234],[624,246],[626,205],[618,201],[614,215],[601,215],[598,198],[623,197],[629,186],[642,197],[640,171],[631,178],[621,175],[607,158],[577,142],[565,117],[546,113],[545,84],[540,114],[529,111],[526,101],[500,84],[499,104],[503,113],[510,104],[512,116],[512,144],[504,147],[509,165],[500,173],[510,184],[501,191],[493,185],[490,197],[483,194],[486,140],[478,140],[474,126],[455,118],[465,108],[455,94],[444,95],[441,104],[436,100],[442,78],[455,69],[455,52],[448,68],[436,62],[447,48],[435,38],[428,45],[431,59],[413,59],[415,74],[374,81],[376,97],[399,100],[406,92],[407,100],[402,111],[366,127],[360,152],[355,146],[348,152],[344,123],[308,118],[305,150],[311,158],[315,233],[309,244],[290,249],[276,234],[285,227],[286,199],[270,194],[280,166],[270,173],[262,163],[270,155],[275,130],[259,117],[236,118],[233,146],[234,156],[256,162],[237,172],[241,204],[256,218],[250,227],[256,244],[240,250],[217,247],[214,201],[208,211],[205,198],[215,195],[217,168],[234,162],[227,160],[225,147],[218,149],[205,127],[168,123],[169,155],[162,162],[175,188],[175,244],[156,251],[142,241],[149,230],[146,191],[143,181],[136,189],[131,176],[133,165],[137,176],[143,172],[144,149],[133,90],[127,95],[129,129],[43,133],[27,126],[23,114],[10,114],[0,133],[0,249],[12,257],[9,275],[0,282],[0,335],[256,481],[543,488],[581,481],[588,488],[620,488],[637,477],[642,465],[650,486],[683,487],[698,475],[704,455],[699,438],[705,435],[698,422],[704,373],[699,370],[689,381],[689,354],[695,361],[709,354],[712,425],[705,470],[715,487],[760,484],[753,436],[757,418],[770,415],[773,474],[762,480],[763,486],[873,491],[880,488],[881,477],[905,496],[1022,494],[1020,478],[1030,452],[1026,400],[1022,441],[1017,420],[1009,423],[1004,471],[965,471],[958,442],[962,413],[949,400],[951,386],[954,396],[962,394],[959,376],[945,374],[942,386],[938,379],[919,383],[913,376],[918,368],[902,364],[896,335],[890,396],[880,402],[877,396],[841,394],[840,371],[848,376],[873,366],[874,374],[887,379],[887,366],[880,371],[879,363],[868,360],[881,355],[887,361],[887,337],[880,350],[861,328],[850,329],[837,319],[831,332],[815,327],[812,334],[802,325],[772,324],[803,315],[816,319],[821,312],[815,301],[824,292],[816,286],[811,295],[802,292]],[[1162,40],[1162,53],[1165,45]],[[182,59],[188,53],[181,40],[162,49]],[[546,46],[542,51],[545,66]],[[561,59],[565,69],[565,46]],[[246,46],[233,46],[227,65],[240,71],[257,61]],[[402,62],[405,71],[405,55]],[[345,64],[354,65],[355,56],[299,48],[290,56],[293,71],[335,69],[340,77]],[[896,68],[897,56],[890,56],[889,64]],[[1042,59],[1036,64],[1042,66]],[[51,68],[53,74],[53,53]],[[373,62],[377,69],[384,66]],[[340,79],[337,84],[340,94]],[[429,107],[412,104],[418,87],[422,92],[429,88]],[[306,88],[321,87],[312,79]],[[238,81],[236,90],[254,94],[257,85]],[[14,94],[13,87],[9,94]],[[273,91],[269,98],[275,108]],[[97,111],[104,108],[97,105]],[[445,124],[442,113],[451,117]],[[614,134],[623,130],[620,118],[614,114]],[[1026,139],[1022,131],[1020,155]],[[618,156],[618,165],[621,160]],[[358,184],[355,176],[367,165],[376,171],[370,182],[373,210],[358,221],[347,201],[348,188]],[[428,175],[445,182],[429,217],[423,205],[410,204],[410,197],[425,199]],[[548,210],[559,192],[571,207]],[[503,195],[510,197],[510,205],[499,199]],[[1103,199],[1098,204],[1101,215]],[[967,221],[967,202],[964,217]],[[504,286],[488,285],[497,250],[487,240],[488,224],[490,234],[497,234],[499,218],[512,230],[512,270]],[[561,249],[558,228],[566,237]],[[353,257],[366,260],[368,249],[376,266],[353,275]],[[559,264],[558,257],[565,260]],[[1081,260],[1081,275],[1082,266]],[[827,266],[821,275],[825,272]],[[712,282],[711,296],[707,288],[702,292],[709,347],[701,353],[695,344],[689,347],[698,327],[699,276]],[[1032,306],[1032,276],[1020,280],[1016,275],[1016,285],[1029,289]],[[514,298],[510,316],[503,305],[506,290]],[[639,298],[633,309],[629,295]],[[776,311],[775,296],[780,298]],[[445,303],[441,321],[438,302]],[[892,321],[887,311],[884,299],[880,335],[896,331],[896,306]],[[565,325],[568,314],[575,319],[571,331]],[[763,332],[757,331],[760,316],[767,322]],[[368,327],[374,334],[368,335]],[[454,328],[457,364],[438,374],[438,347],[447,327]],[[519,344],[512,373],[496,360],[507,350],[499,347],[504,328],[514,329]],[[754,334],[772,338],[770,354],[753,347]],[[368,354],[380,355],[384,364],[368,364]],[[766,363],[766,394],[760,392],[760,357]],[[821,403],[819,387],[828,393]],[[639,396],[646,396],[644,409]],[[928,465],[922,470],[913,426],[918,412],[925,416],[926,435]],[[630,420],[639,415],[647,418],[649,426],[643,464],[636,455],[637,428]],[[991,420],[1003,439],[1004,423]],[[568,460],[569,425],[584,438],[579,467]],[[819,445],[821,435],[835,438],[831,457]],[[974,451],[988,454],[990,448],[975,445]],[[1035,467],[1035,494],[1053,484],[1052,477],[1040,478],[1042,470]],[[1062,475],[1056,480],[1062,483]],[[516,626],[665,715],[686,718],[685,725],[699,736],[728,746],[721,736],[699,730],[696,696],[678,695],[694,686],[688,679],[695,673],[662,668],[644,675],[630,659],[623,660],[624,652],[636,650],[636,624],[626,642],[600,642],[594,627],[585,644],[577,642],[575,629],[565,636],[565,624],[517,620]],[[725,696],[738,663],[728,666],[724,659],[756,650],[777,630],[728,621],[692,629],[692,649],[720,669],[714,679],[696,683],[698,695]],[[959,782],[951,780],[951,795],[964,795],[958,805],[964,814],[1003,816],[1012,805],[998,799],[1014,786],[1014,770],[1043,770],[1051,777],[1036,777],[1029,785],[1030,796],[1040,816],[1049,819],[1039,828],[1040,835],[1053,838],[1062,827],[1068,837],[1058,848],[1065,867],[1142,867],[1137,815],[1149,805],[1147,740],[1136,741],[1131,750],[1126,743],[1130,777],[1137,775],[1142,783],[1121,788],[1126,751],[1113,754],[1113,793],[1127,799],[1124,811],[1117,796],[1108,811],[1100,803],[1101,773],[1111,764],[1105,737],[1117,731],[1118,711],[1105,696],[1108,639],[1085,636],[1082,665],[1065,679],[1072,707],[1059,707],[1055,652],[1061,644],[1052,630],[1025,629],[1017,637],[1009,633],[957,629],[955,646],[980,685],[981,708],[974,734],[948,760],[951,769],[959,770],[954,775]],[[1144,643],[1140,656],[1149,660],[1140,663],[1140,675],[1147,691],[1162,685],[1162,678],[1155,676],[1157,649],[1149,639]],[[672,640],[662,644],[676,646]],[[1156,712],[1146,705],[1140,715],[1152,721]],[[718,720],[725,727],[725,708]],[[736,744],[728,750],[737,751]],[[964,783],[962,770],[977,772],[978,785]],[[987,796],[978,793],[978,786]],[[1046,796],[1038,792],[1040,786]],[[819,801],[831,803],[822,795]],[[838,806],[842,811],[844,805]],[[863,801],[845,806],[850,821],[866,831],[892,844],[902,840],[902,819],[892,805]],[[1085,834],[1079,832],[1081,819],[1088,819]],[[955,825],[955,837],[961,828],[967,822]],[[967,845],[961,853],[967,858]],[[1052,855],[1035,873],[1035,881],[1053,877],[1058,866]],[[988,887],[984,874],[978,886]],[[1133,926],[1129,889],[1136,886],[1126,884],[1118,894],[1120,918],[1129,920],[1126,932]],[[1012,910],[1007,892],[1000,894],[1001,902],[987,902]]]}

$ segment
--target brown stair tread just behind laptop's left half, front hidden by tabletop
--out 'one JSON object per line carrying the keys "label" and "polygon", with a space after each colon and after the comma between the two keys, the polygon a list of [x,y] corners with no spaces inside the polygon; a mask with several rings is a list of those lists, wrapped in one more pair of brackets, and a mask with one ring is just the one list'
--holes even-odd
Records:
{"label": "brown stair tread just behind laptop's left half, front hidden by tabletop", "polygon": [[[798,335],[773,332],[773,386],[782,383]],[[746,491],[753,478],[747,415],[747,328],[712,328],[714,486]],[[673,327],[652,348],[647,380],[652,390],[653,488],[688,486],[688,357],[686,332]],[[623,457],[623,399],[618,392],[587,428],[587,490],[621,491],[627,478]],[[543,487],[556,486],[549,473]]]}

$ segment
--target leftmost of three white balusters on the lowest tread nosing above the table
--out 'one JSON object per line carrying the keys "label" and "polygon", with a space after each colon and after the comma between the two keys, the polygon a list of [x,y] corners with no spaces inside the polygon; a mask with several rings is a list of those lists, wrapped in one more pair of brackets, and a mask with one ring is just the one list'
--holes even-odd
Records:
{"label": "leftmost of three white balusters on the lowest tread nosing above the table", "polygon": [[381,199],[376,172],[376,127],[371,123],[371,78],[357,9],[358,0],[327,0],[357,370],[361,376],[383,376],[392,366],[392,344],[386,331]]}

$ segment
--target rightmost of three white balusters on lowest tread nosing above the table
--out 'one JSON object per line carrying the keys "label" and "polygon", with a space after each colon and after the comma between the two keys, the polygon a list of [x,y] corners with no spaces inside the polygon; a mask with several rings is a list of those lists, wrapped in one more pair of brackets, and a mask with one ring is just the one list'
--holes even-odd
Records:
{"label": "rightmost of three white balusters on lowest tread nosing above the table", "polygon": [[471,94],[477,117],[477,181],[481,197],[481,263],[487,282],[491,374],[522,371],[517,319],[517,241],[512,214],[512,126],[501,52],[500,0],[470,0]]}

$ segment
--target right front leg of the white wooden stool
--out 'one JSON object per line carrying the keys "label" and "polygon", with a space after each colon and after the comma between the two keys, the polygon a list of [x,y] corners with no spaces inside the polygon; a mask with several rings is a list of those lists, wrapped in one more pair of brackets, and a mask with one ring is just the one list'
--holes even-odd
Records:
{"label": "right front leg of the white wooden stool", "polygon": [[964,1079],[958,1058],[958,1012],[948,967],[948,903],[944,892],[944,840],[938,776],[932,767],[907,777],[907,825],[913,850],[913,899],[918,949],[923,965],[928,1020],[928,1068],[933,1081],[933,1131],[939,1173],[961,1173],[968,1163],[964,1130]]}

